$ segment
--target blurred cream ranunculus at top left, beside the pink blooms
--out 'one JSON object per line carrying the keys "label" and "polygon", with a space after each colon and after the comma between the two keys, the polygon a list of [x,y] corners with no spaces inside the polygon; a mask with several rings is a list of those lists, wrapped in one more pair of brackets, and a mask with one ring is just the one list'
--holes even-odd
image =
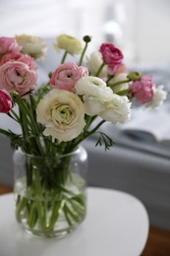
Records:
{"label": "blurred cream ranunculus at top left, beside the pink blooms", "polygon": [[23,53],[35,59],[43,60],[47,51],[47,44],[42,37],[21,34],[15,36],[19,45],[23,46]]}

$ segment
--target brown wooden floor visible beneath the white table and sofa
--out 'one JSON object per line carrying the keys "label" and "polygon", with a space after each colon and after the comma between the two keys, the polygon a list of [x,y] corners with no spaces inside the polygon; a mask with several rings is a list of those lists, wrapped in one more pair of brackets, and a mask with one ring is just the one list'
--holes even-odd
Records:
{"label": "brown wooden floor visible beneath the white table and sofa", "polygon": [[[11,192],[11,187],[0,184],[0,195]],[[170,256],[170,231],[150,226],[142,256]]]}

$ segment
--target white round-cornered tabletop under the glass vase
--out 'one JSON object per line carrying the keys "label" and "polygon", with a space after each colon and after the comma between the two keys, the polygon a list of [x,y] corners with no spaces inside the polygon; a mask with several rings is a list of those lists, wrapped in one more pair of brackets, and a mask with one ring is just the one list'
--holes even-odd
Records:
{"label": "white round-cornered tabletop under the glass vase", "polygon": [[145,208],[121,191],[88,188],[85,222],[62,239],[29,236],[16,223],[13,200],[0,196],[0,256],[140,256],[146,243]]}

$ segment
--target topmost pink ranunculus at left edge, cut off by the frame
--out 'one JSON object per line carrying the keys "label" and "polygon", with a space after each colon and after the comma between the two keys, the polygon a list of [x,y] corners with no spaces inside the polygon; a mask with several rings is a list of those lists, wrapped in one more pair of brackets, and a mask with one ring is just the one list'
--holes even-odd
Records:
{"label": "topmost pink ranunculus at left edge, cut off by the frame", "polygon": [[17,53],[22,50],[15,38],[2,36],[0,37],[0,55],[6,53]]}

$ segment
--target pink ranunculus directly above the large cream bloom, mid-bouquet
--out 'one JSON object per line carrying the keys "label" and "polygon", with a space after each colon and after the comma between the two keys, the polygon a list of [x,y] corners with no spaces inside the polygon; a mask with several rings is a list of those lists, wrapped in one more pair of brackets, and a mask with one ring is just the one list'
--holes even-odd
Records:
{"label": "pink ranunculus directly above the large cream bloom, mid-bouquet", "polygon": [[50,79],[50,84],[52,88],[74,93],[76,82],[87,75],[87,68],[79,67],[74,62],[66,62],[55,70]]}

